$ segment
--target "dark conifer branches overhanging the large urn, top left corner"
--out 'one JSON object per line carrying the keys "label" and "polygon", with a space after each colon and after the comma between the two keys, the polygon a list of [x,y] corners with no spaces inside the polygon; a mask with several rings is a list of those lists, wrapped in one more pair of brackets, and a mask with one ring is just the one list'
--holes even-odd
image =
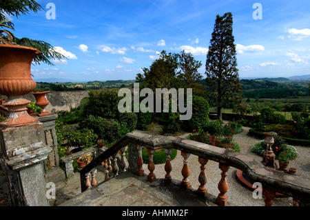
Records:
{"label": "dark conifer branches overhanging the large urn, top left corner", "polygon": [[[0,1],[0,28],[9,28],[14,30],[14,23],[9,21],[8,16],[12,15],[19,17],[21,14],[29,14],[30,12],[38,12],[42,10],[42,6],[34,0],[1,0]],[[3,34],[4,33],[4,34]],[[28,38],[17,38],[9,30],[0,30],[0,43],[18,44],[20,46],[28,46],[36,48],[43,52],[43,54],[34,58],[34,63],[47,63],[50,66],[54,64],[50,59],[65,59],[63,54],[56,52],[50,43],[45,41],[38,41]]]}

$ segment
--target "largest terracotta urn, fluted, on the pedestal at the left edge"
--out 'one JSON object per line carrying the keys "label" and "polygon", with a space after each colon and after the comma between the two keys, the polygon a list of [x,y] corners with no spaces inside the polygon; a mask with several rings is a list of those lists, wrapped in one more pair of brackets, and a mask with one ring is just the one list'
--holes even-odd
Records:
{"label": "largest terracotta urn, fluted, on the pedestal at the left edge", "polygon": [[28,114],[26,106],[30,101],[23,95],[37,86],[32,80],[30,68],[32,59],[39,54],[42,52],[35,48],[0,44],[0,94],[8,96],[3,106],[9,111],[8,119],[0,126],[25,126],[38,121]]}

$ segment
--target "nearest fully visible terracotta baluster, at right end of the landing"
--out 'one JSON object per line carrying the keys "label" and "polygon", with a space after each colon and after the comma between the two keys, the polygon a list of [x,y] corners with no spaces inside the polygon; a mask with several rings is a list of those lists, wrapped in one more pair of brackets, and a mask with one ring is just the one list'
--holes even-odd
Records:
{"label": "nearest fully visible terracotta baluster, at right end of the landing", "polygon": [[222,170],[220,178],[220,182],[218,183],[218,190],[220,190],[220,193],[218,194],[218,197],[216,198],[216,203],[218,203],[220,206],[226,206],[227,205],[227,195],[225,194],[228,191],[228,184],[226,181],[226,172],[229,170],[229,166],[219,163],[218,167],[220,170]]}

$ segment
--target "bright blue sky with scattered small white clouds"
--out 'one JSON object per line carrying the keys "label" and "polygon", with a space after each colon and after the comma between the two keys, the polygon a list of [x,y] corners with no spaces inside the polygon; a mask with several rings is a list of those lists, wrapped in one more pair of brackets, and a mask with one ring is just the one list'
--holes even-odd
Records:
{"label": "bright blue sky with scattered small white clouds", "polygon": [[[10,17],[14,34],[47,41],[67,60],[32,66],[34,79],[135,79],[157,53],[191,52],[205,61],[216,14],[231,12],[239,75],[310,74],[310,1],[37,0],[45,11]],[[47,19],[54,3],[56,19]],[[262,6],[262,19],[253,14]]]}

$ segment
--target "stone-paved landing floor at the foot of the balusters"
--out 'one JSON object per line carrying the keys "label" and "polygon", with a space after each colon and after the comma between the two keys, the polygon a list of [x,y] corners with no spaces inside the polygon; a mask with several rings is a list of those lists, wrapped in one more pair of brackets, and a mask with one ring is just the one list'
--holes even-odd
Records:
{"label": "stone-paved landing floor at the foot of the balusters", "polygon": [[163,179],[149,183],[146,177],[123,172],[103,181],[60,206],[216,206],[216,197],[202,197],[179,182],[165,185]]}

